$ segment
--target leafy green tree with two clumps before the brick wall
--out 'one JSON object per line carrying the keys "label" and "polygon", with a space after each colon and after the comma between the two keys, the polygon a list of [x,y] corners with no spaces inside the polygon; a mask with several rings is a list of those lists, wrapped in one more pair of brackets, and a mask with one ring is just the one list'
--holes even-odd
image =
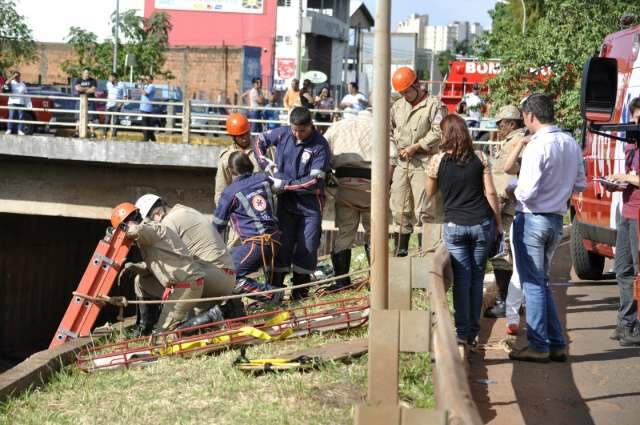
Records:
{"label": "leafy green tree with two clumps before the brick wall", "polygon": [[[111,15],[112,33],[115,39],[115,12]],[[135,10],[120,14],[118,40],[118,71],[126,75],[124,67],[127,54],[136,57],[133,67],[134,76],[156,74],[164,78],[173,78],[171,71],[163,70],[166,51],[169,48],[171,22],[166,13],[153,13],[148,18],[136,15]],[[72,27],[67,41],[73,47],[75,58],[62,63],[62,69],[70,77],[78,77],[84,68],[89,68],[97,78],[107,78],[112,71],[113,40],[98,42],[98,37],[82,28]]]}

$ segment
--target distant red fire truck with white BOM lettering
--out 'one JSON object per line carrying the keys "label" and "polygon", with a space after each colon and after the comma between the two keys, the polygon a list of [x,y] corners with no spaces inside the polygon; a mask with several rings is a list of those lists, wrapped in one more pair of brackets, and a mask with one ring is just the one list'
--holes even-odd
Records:
{"label": "distant red fire truck with white BOM lettering", "polygon": [[480,84],[480,93],[487,93],[484,83],[500,73],[500,62],[490,60],[480,62],[477,60],[457,60],[449,62],[449,74],[445,77],[441,91],[442,103],[447,106],[449,112],[456,111],[458,103],[464,95],[471,92],[471,87]]}

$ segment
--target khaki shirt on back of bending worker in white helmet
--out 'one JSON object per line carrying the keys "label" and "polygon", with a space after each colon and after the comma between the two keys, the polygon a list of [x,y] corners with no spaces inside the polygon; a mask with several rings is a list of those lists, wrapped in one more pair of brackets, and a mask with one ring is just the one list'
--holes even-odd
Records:
{"label": "khaki shirt on back of bending worker in white helmet", "polygon": [[233,270],[233,260],[222,236],[199,211],[174,205],[162,219],[162,224],[180,236],[196,260]]}

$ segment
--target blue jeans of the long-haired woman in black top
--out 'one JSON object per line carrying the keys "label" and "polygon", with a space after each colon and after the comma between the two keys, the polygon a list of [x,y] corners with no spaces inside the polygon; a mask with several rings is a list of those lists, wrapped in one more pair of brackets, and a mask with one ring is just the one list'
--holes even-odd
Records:
{"label": "blue jeans of the long-haired woman in black top", "polygon": [[464,341],[480,332],[484,270],[495,236],[493,218],[472,226],[444,224],[443,239],[453,268],[453,317],[458,338]]}

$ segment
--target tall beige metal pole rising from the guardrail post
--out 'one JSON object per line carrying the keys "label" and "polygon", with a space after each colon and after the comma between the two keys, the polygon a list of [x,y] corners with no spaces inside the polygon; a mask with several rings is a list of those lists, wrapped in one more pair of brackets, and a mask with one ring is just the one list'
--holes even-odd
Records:
{"label": "tall beige metal pole rising from the guardrail post", "polygon": [[373,156],[371,170],[371,308],[388,306],[389,81],[391,0],[378,0],[373,54]]}

